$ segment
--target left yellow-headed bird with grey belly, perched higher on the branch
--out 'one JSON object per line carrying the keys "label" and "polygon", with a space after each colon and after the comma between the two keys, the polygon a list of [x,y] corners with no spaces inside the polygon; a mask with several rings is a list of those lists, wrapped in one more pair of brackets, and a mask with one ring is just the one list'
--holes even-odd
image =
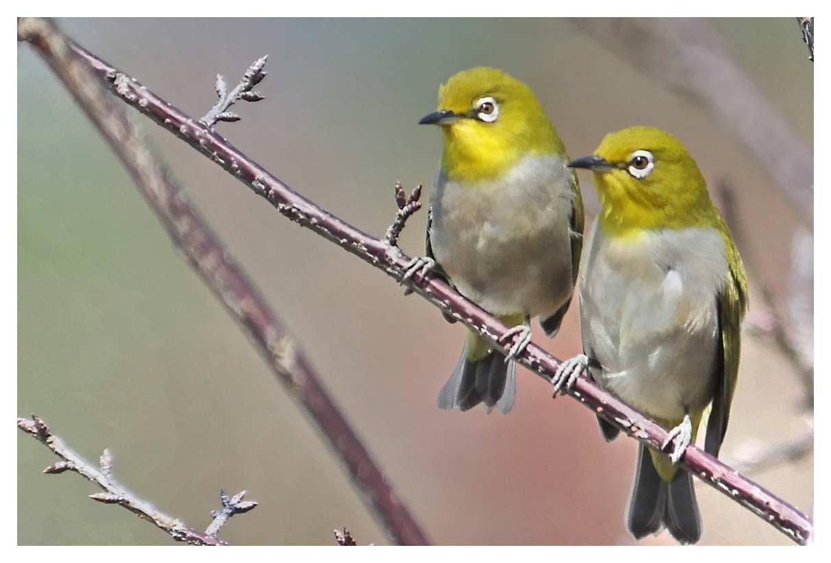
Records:
{"label": "left yellow-headed bird with grey belly, perched higher on the branch", "polygon": [[447,277],[465,297],[513,327],[507,357],[468,331],[441,409],[484,403],[507,413],[512,360],[531,340],[530,318],[557,334],[571,302],[583,242],[583,200],[563,141],[528,86],[503,71],[461,71],[439,90],[441,165],[428,211],[427,257],[416,271]]}

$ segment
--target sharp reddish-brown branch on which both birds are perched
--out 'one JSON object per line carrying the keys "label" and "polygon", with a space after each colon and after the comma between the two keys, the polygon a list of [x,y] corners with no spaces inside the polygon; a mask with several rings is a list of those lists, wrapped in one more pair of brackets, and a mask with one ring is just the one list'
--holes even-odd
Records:
{"label": "sharp reddish-brown branch on which both birds are perched", "polygon": [[[248,159],[219,135],[199,125],[140,86],[129,76],[116,71],[75,44],[71,43],[71,48],[87,61],[102,80],[110,83],[116,95],[119,95],[126,103],[138,108],[150,119],[175,133],[195,149],[209,155],[214,162],[247,184],[255,193],[267,198],[280,213],[337,243],[338,246],[361,257],[396,280],[401,279],[411,258],[400,249],[392,247],[386,240],[362,233],[341,218],[318,207],[269,174],[259,164]],[[411,286],[425,299],[438,306],[441,311],[463,322],[465,326],[489,340],[492,345],[505,350],[505,346],[498,339],[509,327],[479,306],[466,300],[445,281],[432,277],[430,273],[419,272],[412,277]],[[533,342],[516,360],[549,381],[559,365],[556,358]],[[581,403],[586,404],[594,413],[603,416],[627,434],[647,443],[651,448],[661,449],[661,445],[666,442],[666,428],[622,403],[617,397],[585,376],[578,378],[569,393]],[[724,463],[720,463],[701,448],[692,446],[687,448],[684,458],[681,459],[681,467],[768,521],[793,541],[799,544],[809,541],[813,523],[808,516],[783,499],[775,497],[759,484],[741,476]]]}

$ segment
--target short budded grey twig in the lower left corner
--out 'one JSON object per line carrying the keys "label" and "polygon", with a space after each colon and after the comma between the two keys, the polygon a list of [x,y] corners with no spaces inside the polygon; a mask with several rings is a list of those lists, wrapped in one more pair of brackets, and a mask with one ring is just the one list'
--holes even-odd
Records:
{"label": "short budded grey twig in the lower left corner", "polygon": [[[177,518],[166,515],[160,512],[150,502],[146,502],[137,497],[133,492],[128,491],[122,487],[115,478],[112,477],[112,455],[109,449],[104,450],[101,456],[101,466],[96,468],[90,463],[87,463],[84,458],[75,453],[71,448],[67,447],[61,438],[58,438],[52,433],[52,430],[47,426],[47,423],[42,419],[32,414],[32,419],[17,419],[17,428],[23,432],[32,434],[38,441],[44,443],[55,455],[62,459],[62,461],[50,465],[44,469],[44,473],[62,473],[65,471],[73,471],[79,475],[86,477],[91,482],[94,482],[104,492],[96,492],[90,495],[90,498],[97,502],[105,504],[118,504],[125,507],[130,512],[137,514],[140,518],[151,521],[156,527],[166,531],[175,541],[184,541],[196,546],[227,546],[228,544],[219,539],[216,534],[219,532],[219,526],[209,527],[207,531],[201,532],[194,530],[184,525],[184,522]],[[241,493],[242,494],[242,493]],[[234,497],[236,498],[236,497]],[[224,503],[224,501],[223,501]],[[256,506],[256,502],[250,503]],[[249,507],[250,510],[253,507]],[[246,512],[246,511],[237,511]],[[229,515],[230,516],[230,515]],[[227,518],[226,518],[227,520]],[[224,521],[222,522],[224,524]]]}

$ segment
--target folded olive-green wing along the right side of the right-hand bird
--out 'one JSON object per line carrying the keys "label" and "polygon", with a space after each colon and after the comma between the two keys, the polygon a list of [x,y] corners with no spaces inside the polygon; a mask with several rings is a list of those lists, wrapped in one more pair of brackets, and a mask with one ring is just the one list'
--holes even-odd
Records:
{"label": "folded olive-green wing along the right side of the right-hand bird", "polygon": [[704,449],[717,457],[730,420],[730,404],[739,379],[741,321],[747,309],[745,270],[735,247],[728,252],[730,272],[724,289],[717,296],[719,311],[719,356],[715,362],[715,393]]}

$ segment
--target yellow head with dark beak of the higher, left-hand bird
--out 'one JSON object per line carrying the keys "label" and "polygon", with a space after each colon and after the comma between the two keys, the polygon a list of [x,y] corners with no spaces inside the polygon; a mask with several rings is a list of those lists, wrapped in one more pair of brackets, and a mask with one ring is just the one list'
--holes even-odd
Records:
{"label": "yellow head with dark beak of the higher, left-hand bird", "polygon": [[441,168],[459,182],[497,179],[526,156],[565,152],[534,92],[487,66],[451,76],[438,110],[419,123],[441,127]]}

